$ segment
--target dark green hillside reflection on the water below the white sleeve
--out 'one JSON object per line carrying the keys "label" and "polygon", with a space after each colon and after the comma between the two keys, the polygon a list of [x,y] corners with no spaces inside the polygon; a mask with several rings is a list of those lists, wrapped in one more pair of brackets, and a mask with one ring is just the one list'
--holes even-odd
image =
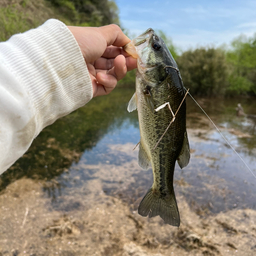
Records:
{"label": "dark green hillside reflection on the water below the white sleeve", "polygon": [[[131,95],[131,89],[116,90],[45,128],[29,151],[1,176],[0,189],[22,177],[49,181],[61,175],[106,133],[123,124]],[[135,113],[129,122],[137,125]]]}

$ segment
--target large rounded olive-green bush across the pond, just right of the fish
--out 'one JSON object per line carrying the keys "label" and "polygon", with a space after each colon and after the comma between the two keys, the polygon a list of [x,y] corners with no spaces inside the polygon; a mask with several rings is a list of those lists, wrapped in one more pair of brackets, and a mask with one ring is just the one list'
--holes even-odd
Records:
{"label": "large rounded olive-green bush across the pond, just right of the fish", "polygon": [[228,85],[228,67],[222,49],[199,48],[177,58],[184,86],[192,94],[223,96]]}

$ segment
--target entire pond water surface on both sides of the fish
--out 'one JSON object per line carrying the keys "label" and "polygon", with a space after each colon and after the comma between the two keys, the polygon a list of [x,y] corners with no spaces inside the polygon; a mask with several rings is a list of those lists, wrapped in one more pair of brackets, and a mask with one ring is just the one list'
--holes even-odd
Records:
{"label": "entire pond water surface on both sides of the fish", "polygon": [[[141,170],[138,151],[133,151],[140,140],[137,112],[126,110],[133,92],[117,88],[44,129],[24,157],[1,176],[1,190],[23,177],[42,181],[52,207],[69,211],[79,209],[79,204],[66,204],[63,196],[73,194],[86,200],[86,184],[100,180],[103,193],[121,198],[136,210],[152,185],[152,171]],[[198,102],[256,175],[255,122],[235,112],[241,103],[246,113],[256,115],[256,101]],[[184,196],[202,215],[256,209],[256,179],[189,97],[187,128],[191,161],[183,170],[176,166],[176,195]]]}

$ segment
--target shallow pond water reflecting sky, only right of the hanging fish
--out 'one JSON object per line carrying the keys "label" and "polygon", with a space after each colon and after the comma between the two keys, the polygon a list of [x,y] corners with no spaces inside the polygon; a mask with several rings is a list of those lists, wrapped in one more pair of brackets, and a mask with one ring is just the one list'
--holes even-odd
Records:
{"label": "shallow pond water reflecting sky, only right of the hanging fish", "polygon": [[[222,100],[217,105],[212,100],[203,100],[205,102],[208,103],[203,104],[204,109],[256,174],[256,137],[251,130],[253,123],[236,116],[237,100]],[[252,108],[246,101],[243,105],[246,109],[255,111],[255,105]],[[190,144],[194,154],[188,170],[182,171],[182,174],[178,170],[176,172],[178,179],[182,178],[193,185],[183,189],[186,198],[190,198],[190,203],[196,208],[200,209],[205,205],[212,212],[232,207],[255,209],[256,180],[252,174],[200,112],[196,109],[188,109],[188,112]],[[193,122],[193,116],[198,120],[198,115],[204,124]]]}

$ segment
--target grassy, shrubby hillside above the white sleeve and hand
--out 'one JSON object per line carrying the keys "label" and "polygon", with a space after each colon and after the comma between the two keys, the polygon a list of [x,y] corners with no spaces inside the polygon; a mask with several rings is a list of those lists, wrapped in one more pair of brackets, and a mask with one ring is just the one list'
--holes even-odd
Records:
{"label": "grassy, shrubby hillside above the white sleeve and hand", "polygon": [[69,25],[118,23],[118,8],[108,0],[0,0],[0,41],[37,27],[50,18]]}

